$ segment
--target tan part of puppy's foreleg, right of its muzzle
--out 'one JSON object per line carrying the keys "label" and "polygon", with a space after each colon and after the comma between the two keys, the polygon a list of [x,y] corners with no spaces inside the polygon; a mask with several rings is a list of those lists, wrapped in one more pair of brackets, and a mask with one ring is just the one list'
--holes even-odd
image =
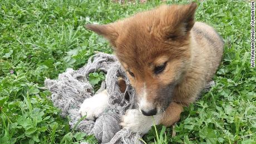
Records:
{"label": "tan part of puppy's foreleg, right of its muzzle", "polygon": [[183,106],[176,102],[171,102],[169,107],[166,108],[160,123],[165,126],[173,125],[175,122],[180,120],[181,112],[183,112]]}

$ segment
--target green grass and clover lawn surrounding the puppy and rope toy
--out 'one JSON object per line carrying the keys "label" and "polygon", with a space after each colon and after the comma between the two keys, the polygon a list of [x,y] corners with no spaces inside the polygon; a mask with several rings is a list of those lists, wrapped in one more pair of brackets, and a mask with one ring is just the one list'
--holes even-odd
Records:
{"label": "green grass and clover lawn surrounding the puppy and rope toy", "polygon": [[[68,118],[61,118],[60,110],[48,100],[50,92],[43,90],[43,81],[57,78],[66,68],[83,66],[94,51],[112,53],[109,44],[87,31],[85,24],[113,22],[161,3],[1,0],[0,143],[95,143],[93,136],[70,130]],[[196,19],[213,26],[225,41],[223,62],[214,77],[216,85],[185,109],[174,128],[163,132],[164,127],[157,126],[159,137],[153,128],[144,141],[256,143],[256,72],[249,63],[249,2],[198,4]]]}

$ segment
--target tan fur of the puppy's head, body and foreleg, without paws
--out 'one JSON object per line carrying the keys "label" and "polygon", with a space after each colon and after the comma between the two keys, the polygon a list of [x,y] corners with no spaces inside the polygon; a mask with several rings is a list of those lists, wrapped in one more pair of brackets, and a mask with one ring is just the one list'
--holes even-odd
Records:
{"label": "tan fur of the puppy's head, body and foreleg, without paws", "polygon": [[[223,54],[218,33],[194,22],[195,10],[195,3],[164,5],[114,23],[87,25],[114,46],[137,99],[146,88],[146,101],[165,110],[161,122],[166,126],[178,121],[183,106],[195,101]],[[164,71],[154,73],[165,62]]]}

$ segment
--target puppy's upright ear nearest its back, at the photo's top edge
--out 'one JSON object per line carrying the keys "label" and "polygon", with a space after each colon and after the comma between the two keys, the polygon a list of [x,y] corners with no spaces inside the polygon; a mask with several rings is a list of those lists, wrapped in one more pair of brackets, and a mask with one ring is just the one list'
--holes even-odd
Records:
{"label": "puppy's upright ear nearest its back, at the photo's top edge", "polygon": [[197,4],[192,2],[186,5],[173,5],[168,8],[165,17],[165,26],[163,32],[166,38],[175,39],[180,36],[185,36],[194,26],[194,15]]}

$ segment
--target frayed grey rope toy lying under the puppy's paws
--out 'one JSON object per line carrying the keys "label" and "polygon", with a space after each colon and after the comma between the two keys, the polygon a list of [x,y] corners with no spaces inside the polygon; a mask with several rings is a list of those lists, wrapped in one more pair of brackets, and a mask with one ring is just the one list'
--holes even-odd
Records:
{"label": "frayed grey rope toy lying under the puppy's paws", "polygon": [[[53,105],[62,110],[62,117],[70,116],[69,124],[71,128],[74,128],[81,118],[78,112],[80,106],[86,98],[94,94],[88,75],[96,71],[106,73],[106,79],[102,81],[101,88],[96,93],[107,90],[110,97],[109,107],[96,118],[96,121],[82,120],[76,130],[95,135],[99,143],[142,143],[141,133],[121,129],[119,125],[120,118],[125,115],[125,111],[136,108],[135,91],[129,85],[121,64],[112,54],[97,53],[77,71],[68,68],[66,72],[58,76],[58,80],[46,79],[45,86],[52,93]],[[125,88],[120,88],[119,78],[125,82]]]}

